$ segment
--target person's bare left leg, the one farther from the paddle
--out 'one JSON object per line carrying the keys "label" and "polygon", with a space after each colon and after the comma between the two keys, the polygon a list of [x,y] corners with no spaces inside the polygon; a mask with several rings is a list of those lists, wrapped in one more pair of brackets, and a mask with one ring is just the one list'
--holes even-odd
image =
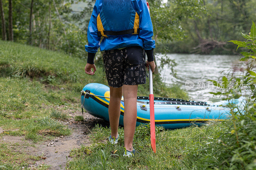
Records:
{"label": "person's bare left leg, the one farther from the paddle", "polygon": [[119,117],[120,117],[120,102],[123,95],[123,86],[119,88],[110,88],[110,101],[108,106],[109,123],[111,128],[111,137],[117,138]]}

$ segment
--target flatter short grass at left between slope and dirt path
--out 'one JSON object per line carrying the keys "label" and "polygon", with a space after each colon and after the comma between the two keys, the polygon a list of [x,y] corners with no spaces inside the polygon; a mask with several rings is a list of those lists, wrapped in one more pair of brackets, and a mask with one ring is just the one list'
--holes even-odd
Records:
{"label": "flatter short grass at left between slope and dirt path", "polygon": [[[26,139],[32,139],[34,142],[44,139],[45,137],[41,136],[44,132],[46,135],[51,135],[46,131],[52,130],[37,122],[37,117],[48,115],[48,110],[51,110],[54,105],[68,104],[68,100],[61,97],[67,95],[67,92],[45,89],[44,85],[36,80],[0,78],[0,88],[2,90],[0,126],[7,130],[8,135],[25,135]],[[70,100],[75,100],[76,96],[72,96],[72,93],[68,96]],[[12,129],[17,130],[11,131]],[[58,132],[52,132],[52,134],[68,135],[70,130],[59,129]]]}

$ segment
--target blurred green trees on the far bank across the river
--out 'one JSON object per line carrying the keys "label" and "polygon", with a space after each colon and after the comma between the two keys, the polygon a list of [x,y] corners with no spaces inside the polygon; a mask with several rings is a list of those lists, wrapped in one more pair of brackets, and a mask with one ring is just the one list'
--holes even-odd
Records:
{"label": "blurred green trees on the far bank across the river", "polygon": [[[182,20],[180,27],[186,37],[182,41],[171,39],[159,48],[172,53],[235,54],[235,46],[227,41],[239,38],[256,17],[255,0],[203,0],[206,12],[193,19]],[[201,46],[198,46],[202,44]],[[203,45],[204,44],[204,45]],[[196,48],[197,47],[197,48]],[[208,50],[202,51],[201,47]],[[157,51],[159,50],[156,49]]]}

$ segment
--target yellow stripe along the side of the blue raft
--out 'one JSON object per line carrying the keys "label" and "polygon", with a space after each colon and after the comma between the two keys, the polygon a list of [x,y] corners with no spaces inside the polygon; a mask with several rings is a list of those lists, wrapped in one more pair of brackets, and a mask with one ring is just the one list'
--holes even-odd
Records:
{"label": "yellow stripe along the side of the blue raft", "polygon": [[[90,94],[95,95],[92,92],[90,92]],[[94,96],[94,97],[97,98],[98,100],[102,101],[103,103],[106,103],[107,105],[109,105],[108,102],[106,102],[105,100],[100,99],[98,96]],[[105,96],[105,97],[109,97],[109,96]],[[122,103],[120,104],[120,106],[122,108],[124,108]],[[121,111],[124,112],[124,110],[122,110],[122,109],[121,109]],[[137,119],[150,122],[150,119],[145,119],[145,118],[138,117],[138,116],[137,116]],[[155,122],[175,122],[175,121],[224,121],[224,119],[169,119],[169,120],[155,120]]]}

